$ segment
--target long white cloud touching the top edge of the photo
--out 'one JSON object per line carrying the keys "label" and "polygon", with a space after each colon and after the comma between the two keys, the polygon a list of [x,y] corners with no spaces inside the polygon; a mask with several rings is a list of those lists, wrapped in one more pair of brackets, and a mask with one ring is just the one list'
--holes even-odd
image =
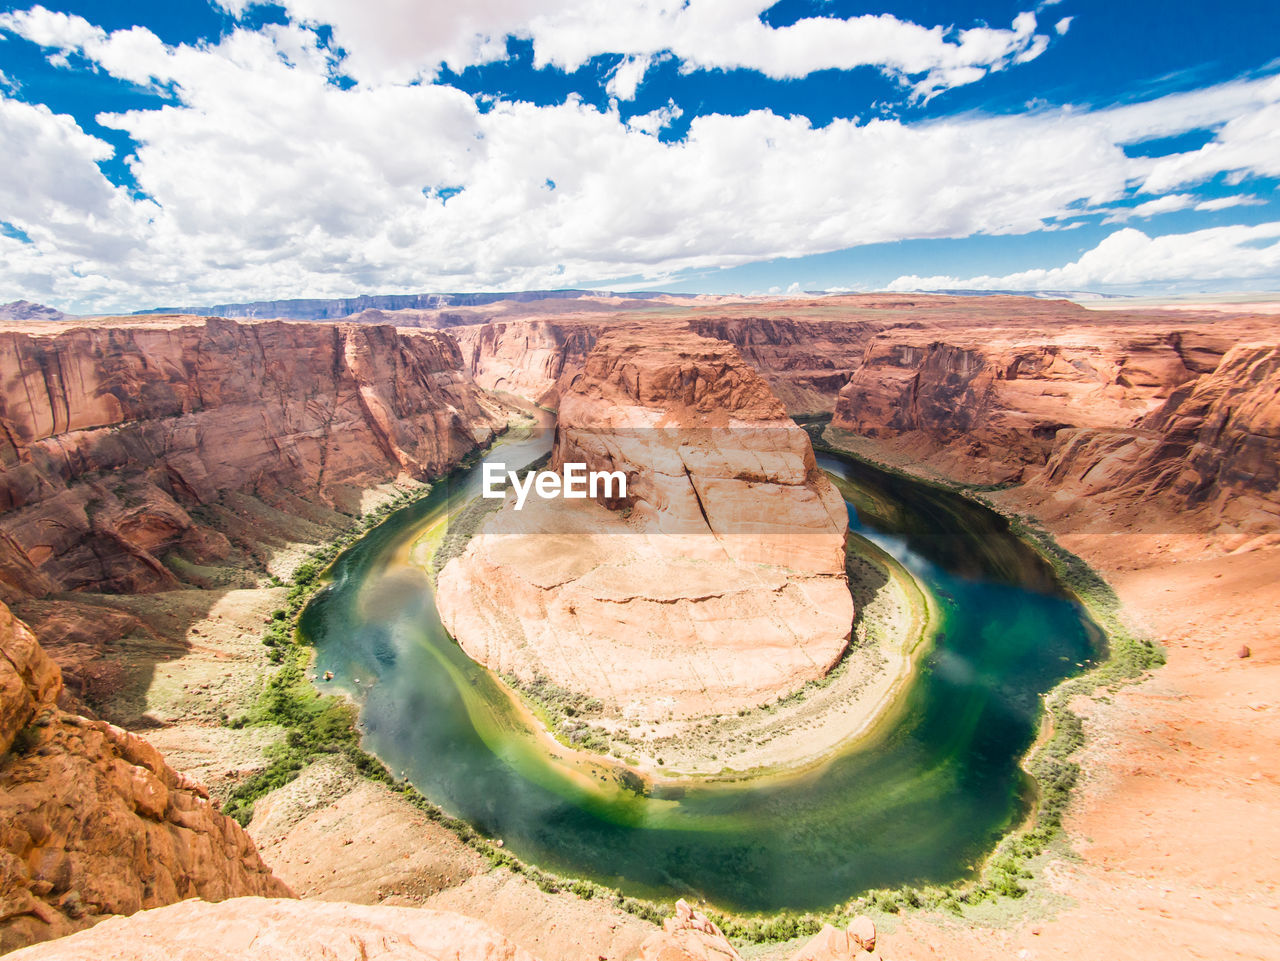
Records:
{"label": "long white cloud touching the top edge of the photo", "polygon": [[[243,13],[253,0],[219,0]],[[909,82],[919,97],[973,83],[988,70],[1039,56],[1048,36],[1036,14],[1020,13],[1007,28],[954,31],[890,14],[806,17],[771,27],[760,14],[772,0],[283,0],[306,23],[333,27],[347,51],[344,64],[361,82],[433,77],[506,56],[506,38],[530,40],[538,67],[575,70],[593,56],[621,54],[614,72],[620,100],[628,100],[653,58],[671,52],[685,69],[750,69],[773,78],[814,70],[873,67]],[[612,92],[612,91],[611,91]]]}

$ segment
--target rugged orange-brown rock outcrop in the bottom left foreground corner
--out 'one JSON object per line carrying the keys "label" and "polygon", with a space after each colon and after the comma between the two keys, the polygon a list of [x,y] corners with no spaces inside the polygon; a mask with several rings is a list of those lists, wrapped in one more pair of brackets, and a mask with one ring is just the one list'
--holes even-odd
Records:
{"label": "rugged orange-brown rock outcrop in the bottom left foreground corner", "polygon": [[0,952],[187,897],[292,897],[244,830],[142,738],[59,710],[0,604]]}

